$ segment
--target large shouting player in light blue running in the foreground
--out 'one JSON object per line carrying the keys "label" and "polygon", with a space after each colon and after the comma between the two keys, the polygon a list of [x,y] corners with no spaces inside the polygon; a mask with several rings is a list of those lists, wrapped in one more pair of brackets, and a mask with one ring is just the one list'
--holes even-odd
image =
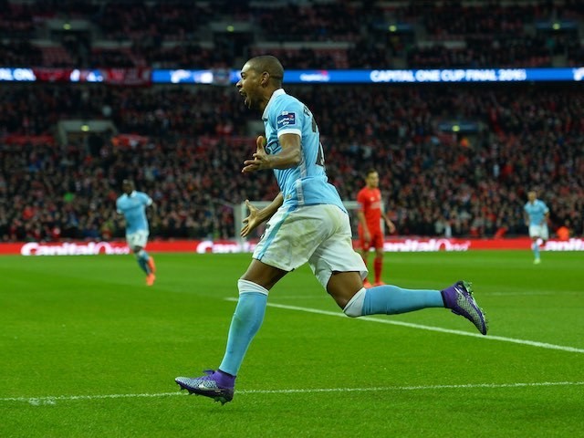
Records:
{"label": "large shouting player in light blue running in the foreground", "polygon": [[282,89],[283,78],[276,57],[253,57],[236,84],[245,105],[263,112],[266,130],[266,138],[257,138],[253,158],[244,162],[242,172],[273,170],[280,193],[261,211],[246,201],[250,214],[242,236],[268,222],[250,266],[237,283],[239,301],[219,369],[203,377],[175,379],[182,389],[222,403],[234,397],[235,376],[264,320],[268,291],[307,262],[349,317],[445,307],[469,319],[484,335],[487,331],[485,315],[466,282],[442,291],[363,287],[367,268],[353,250],[349,215],[339,193],[328,183],[317,122],[306,105]]}

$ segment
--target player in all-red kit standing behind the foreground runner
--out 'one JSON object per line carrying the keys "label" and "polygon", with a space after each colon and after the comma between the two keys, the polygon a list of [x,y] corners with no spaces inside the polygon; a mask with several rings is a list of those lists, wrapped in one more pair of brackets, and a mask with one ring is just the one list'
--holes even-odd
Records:
{"label": "player in all-red kit standing behind the foreground runner", "polygon": [[380,175],[374,169],[367,172],[365,176],[365,187],[357,194],[357,202],[360,210],[359,217],[359,240],[360,255],[363,257],[365,265],[370,248],[375,248],[375,259],[373,260],[373,273],[375,281],[371,285],[368,278],[363,281],[364,287],[384,285],[381,281],[381,269],[383,267],[383,231],[381,230],[381,218],[387,224],[390,233],[395,231],[395,225],[381,211],[381,191],[379,189]]}

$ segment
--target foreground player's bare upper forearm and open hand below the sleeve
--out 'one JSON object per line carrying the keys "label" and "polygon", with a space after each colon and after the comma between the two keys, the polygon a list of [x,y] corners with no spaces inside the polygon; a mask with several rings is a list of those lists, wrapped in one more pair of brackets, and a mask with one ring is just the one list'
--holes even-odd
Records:
{"label": "foreground player's bare upper forearm and open hand below the sleeve", "polygon": [[278,138],[282,151],[276,154],[266,152],[266,139],[257,137],[256,150],[252,160],[245,160],[241,172],[256,172],[265,169],[289,169],[297,166],[301,160],[300,136],[297,134],[283,134]]}

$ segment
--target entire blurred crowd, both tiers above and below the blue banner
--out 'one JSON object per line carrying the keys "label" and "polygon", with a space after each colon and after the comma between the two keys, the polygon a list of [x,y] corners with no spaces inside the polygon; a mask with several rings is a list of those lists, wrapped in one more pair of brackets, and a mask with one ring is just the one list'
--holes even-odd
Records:
{"label": "entire blurred crowd, both tiers above and below the blue banner", "polygon": [[[241,68],[259,54],[287,69],[584,66],[584,4],[575,0],[0,0],[0,8],[0,68]],[[525,235],[534,188],[552,232],[584,233],[578,83],[285,89],[315,114],[344,200],[355,199],[367,170],[380,172],[399,235]],[[71,119],[112,129],[58,135],[59,121]],[[233,87],[0,82],[0,241],[122,237],[115,200],[124,178],[158,206],[151,238],[233,237],[234,208],[277,193],[270,172],[240,172],[257,120]]]}

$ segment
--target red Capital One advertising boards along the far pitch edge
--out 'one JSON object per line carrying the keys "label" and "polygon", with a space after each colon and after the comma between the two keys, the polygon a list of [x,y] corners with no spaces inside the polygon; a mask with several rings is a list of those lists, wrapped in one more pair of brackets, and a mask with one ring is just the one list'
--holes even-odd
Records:
{"label": "red Capital One advertising boards along the far pitch edge", "polygon": [[[235,240],[153,240],[148,250],[153,253],[251,253],[255,241],[240,243]],[[508,239],[445,239],[399,238],[385,241],[386,252],[438,252],[493,249],[529,250],[528,237]],[[584,251],[584,239],[549,240],[543,251]],[[130,254],[125,242],[26,242],[0,244],[0,255],[124,255]]]}

